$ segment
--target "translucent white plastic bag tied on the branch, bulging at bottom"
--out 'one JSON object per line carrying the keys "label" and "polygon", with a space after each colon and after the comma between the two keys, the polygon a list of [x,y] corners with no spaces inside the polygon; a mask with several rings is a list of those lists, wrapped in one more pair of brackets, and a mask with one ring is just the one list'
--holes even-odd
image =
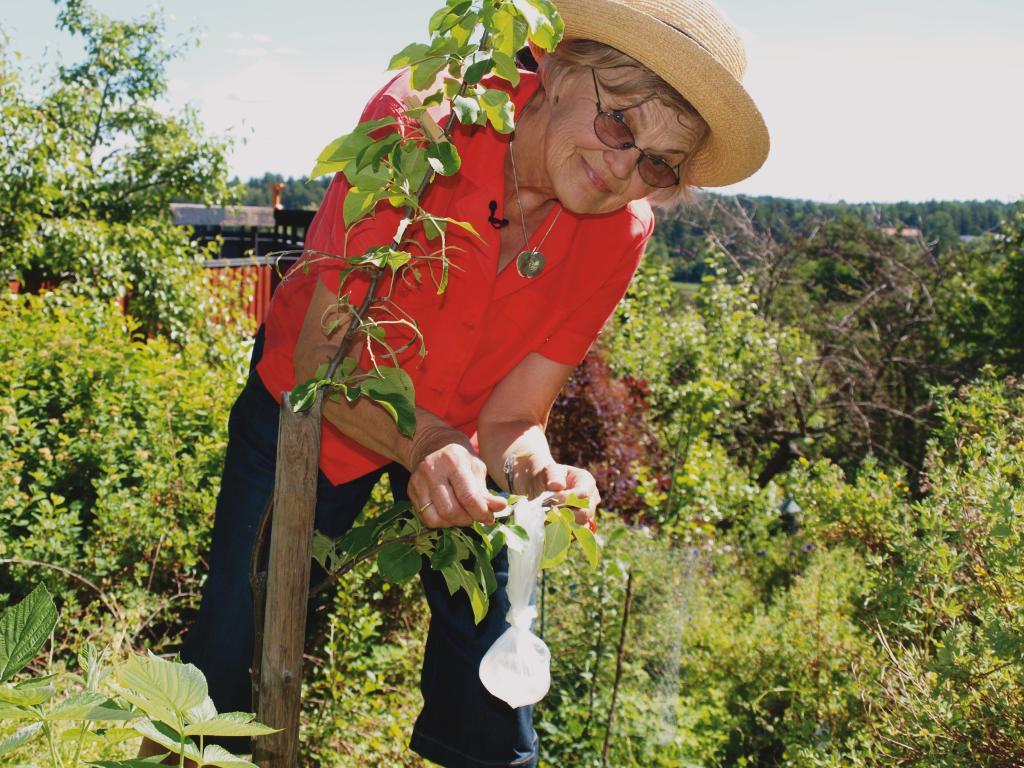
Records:
{"label": "translucent white plastic bag tied on the branch, bulging at bottom", "polygon": [[544,502],[551,494],[523,500],[512,508],[515,523],[521,525],[528,542],[509,546],[509,612],[505,630],[480,659],[483,687],[509,707],[537,703],[551,687],[551,651],[544,641],[529,631],[537,608],[529,596],[541,571],[544,551]]}

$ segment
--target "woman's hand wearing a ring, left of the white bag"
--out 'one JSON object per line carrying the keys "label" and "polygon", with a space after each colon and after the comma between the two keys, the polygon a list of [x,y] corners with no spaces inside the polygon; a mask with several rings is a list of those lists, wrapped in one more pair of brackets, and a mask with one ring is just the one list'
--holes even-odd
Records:
{"label": "woman's hand wearing a ring, left of the white bag", "polygon": [[413,472],[409,497],[427,527],[492,523],[495,513],[508,506],[487,489],[486,465],[457,429],[418,429],[408,466]]}

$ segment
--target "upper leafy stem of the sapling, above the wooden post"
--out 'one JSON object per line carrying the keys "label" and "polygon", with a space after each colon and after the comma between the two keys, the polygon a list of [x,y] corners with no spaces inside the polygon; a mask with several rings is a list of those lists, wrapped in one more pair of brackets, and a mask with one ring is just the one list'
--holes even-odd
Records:
{"label": "upper leafy stem of the sapling, above the wooden post", "polygon": [[[430,42],[407,45],[388,65],[389,69],[410,70],[411,85],[418,92],[419,102],[407,104],[404,117],[418,121],[418,127],[399,126],[391,117],[366,121],[329,143],[317,156],[309,174],[311,179],[328,173],[344,173],[348,181],[342,210],[346,228],[372,216],[377,206],[385,202],[403,209],[390,248],[380,244],[373,252],[376,255],[386,249],[400,258],[380,263],[370,254],[361,257],[348,253],[327,254],[329,258],[346,262],[338,304],[354,323],[343,337],[327,375],[318,375],[299,385],[300,395],[295,398],[297,408],[308,408],[313,401],[312,393],[319,388],[343,393],[350,401],[366,396],[391,415],[402,434],[413,433],[416,428],[415,392],[408,376],[401,374],[398,360],[399,352],[409,345],[395,349],[387,336],[388,326],[396,323],[406,327],[412,325],[415,329],[415,318],[396,319],[398,315],[393,308],[381,306],[387,297],[376,295],[378,281],[381,272],[390,268],[393,272],[408,269],[419,282],[419,265],[436,260],[439,261],[440,278],[435,276],[432,268],[428,271],[438,295],[444,292],[451,267],[445,240],[447,226],[460,226],[472,234],[476,232],[466,222],[424,210],[420,198],[436,175],[451,176],[459,171],[462,161],[450,141],[454,121],[458,118],[473,125],[489,124],[500,133],[511,132],[515,116],[508,93],[488,88],[480,81],[487,72],[495,70],[498,77],[517,83],[519,76],[513,59],[519,49],[534,42],[551,50],[561,38],[562,29],[561,18],[549,0],[485,0],[479,5],[445,3],[428,24]],[[445,100],[452,102],[452,109],[444,127],[440,128],[427,111]],[[440,241],[436,252],[414,258],[404,250],[407,238],[417,228],[428,241]],[[349,301],[344,286],[344,278],[354,270],[373,275],[371,288],[359,307]],[[373,371],[365,375],[352,369],[337,377],[337,366],[342,356],[349,353],[357,336],[366,342],[373,358]],[[425,353],[423,339],[418,331],[416,336],[422,355]],[[390,366],[378,360],[375,347],[383,351]]]}

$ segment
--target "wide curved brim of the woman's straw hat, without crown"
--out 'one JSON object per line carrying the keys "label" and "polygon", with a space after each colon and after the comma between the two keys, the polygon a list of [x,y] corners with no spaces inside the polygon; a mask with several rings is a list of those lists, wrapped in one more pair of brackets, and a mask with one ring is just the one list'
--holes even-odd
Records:
{"label": "wide curved brim of the woman's straw hat, without crown", "polygon": [[725,186],[753,175],[768,157],[768,128],[754,99],[697,42],[669,24],[616,0],[558,0],[565,39],[617,48],[681,93],[711,132],[694,156],[697,186]]}

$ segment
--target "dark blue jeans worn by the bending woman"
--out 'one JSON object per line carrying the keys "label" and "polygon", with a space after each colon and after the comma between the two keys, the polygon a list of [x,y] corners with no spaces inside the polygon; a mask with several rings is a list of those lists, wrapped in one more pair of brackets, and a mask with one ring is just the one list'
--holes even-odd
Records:
{"label": "dark blue jeans worn by the bending woman", "polygon": [[[262,330],[253,350],[253,366],[262,351]],[[259,376],[249,380],[231,408],[227,456],[210,552],[210,574],[203,589],[199,616],[184,640],[181,657],[206,675],[218,712],[252,709],[249,667],[253,651],[253,597],[249,560],[256,527],[273,495],[279,406]],[[407,499],[409,472],[391,464],[340,485],[319,474],[316,527],[331,537],[353,523],[377,480],[387,473],[392,493]],[[509,602],[508,559],[494,561],[498,590],[490,609],[473,623],[463,592],[449,594],[443,578],[424,561],[420,581],[430,606],[420,690],[423,710],[413,728],[412,750],[447,768],[537,766],[538,741],[532,707],[512,709],[492,696],[478,676],[480,658],[505,631]],[[272,642],[266,638],[264,642]],[[222,739],[225,746],[248,752],[246,741]]]}

